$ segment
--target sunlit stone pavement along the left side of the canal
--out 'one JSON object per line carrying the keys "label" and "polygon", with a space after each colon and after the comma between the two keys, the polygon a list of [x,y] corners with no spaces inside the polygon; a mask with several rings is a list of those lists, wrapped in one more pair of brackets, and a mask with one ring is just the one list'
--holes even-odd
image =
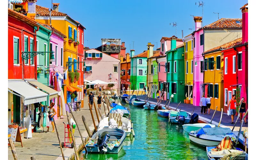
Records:
{"label": "sunlit stone pavement along the left side of the canal", "polygon": [[[90,113],[90,109],[88,106],[88,101],[87,101],[88,96],[86,96],[84,99],[85,99],[84,100],[84,108],[81,108],[81,111],[78,110],[77,113],[73,112],[73,114],[76,118],[76,122],[78,123],[76,125],[78,125],[81,132],[83,132],[82,135],[85,140],[85,138],[88,136],[88,134],[86,132],[84,123],[82,121],[82,115],[84,115],[86,122],[90,126],[91,131],[94,130],[94,126],[93,126],[93,122],[92,122],[92,116]],[[98,108],[96,98],[95,98],[95,102],[96,102],[95,105]],[[93,112],[93,116],[95,119],[95,124],[98,125],[98,120],[96,117],[94,107],[93,107],[92,112]],[[101,114],[105,115],[103,105],[101,105]],[[69,117],[73,118],[71,113],[69,113]],[[99,115],[99,118],[100,118],[100,115]],[[61,142],[64,142],[64,129],[65,128],[64,128],[64,124],[62,122],[67,124],[67,122],[68,122],[67,116],[61,116],[61,118],[58,118],[57,120],[55,120],[55,123],[58,128],[58,132],[60,135],[60,140],[61,140]],[[47,128],[45,127],[44,130],[47,130]],[[52,131],[52,125],[50,126],[49,130]],[[81,137],[80,137],[77,127],[75,129],[74,136],[76,138],[76,146],[78,148],[79,145],[82,143],[82,140],[81,140]],[[20,142],[15,143],[15,149],[16,149],[16,153],[18,155],[19,160],[30,160],[30,157],[32,157],[32,156],[35,156],[36,160],[38,160],[38,159],[55,160],[57,158],[62,159],[59,140],[58,140],[56,131],[55,132],[47,132],[47,133],[34,132],[34,133],[32,133],[32,138],[30,138],[30,139],[22,138],[22,143],[23,143],[23,148],[21,147]],[[68,157],[74,153],[74,148],[63,148],[63,151],[64,151],[65,159],[68,159]],[[13,159],[10,147],[8,147],[8,159]]]}

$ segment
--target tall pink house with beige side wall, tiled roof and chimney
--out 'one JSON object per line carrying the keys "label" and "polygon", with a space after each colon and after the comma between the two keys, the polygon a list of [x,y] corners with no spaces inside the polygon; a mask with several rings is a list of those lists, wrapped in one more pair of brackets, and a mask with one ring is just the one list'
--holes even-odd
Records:
{"label": "tall pink house with beige side wall, tiled roof and chimney", "polygon": [[[221,18],[209,25],[201,27],[202,17],[194,17],[194,88],[193,105],[199,106],[200,99],[205,91],[204,71],[207,70],[208,61],[204,60],[202,53],[221,44],[228,43],[242,36],[242,19]],[[197,65],[196,65],[197,64]]]}

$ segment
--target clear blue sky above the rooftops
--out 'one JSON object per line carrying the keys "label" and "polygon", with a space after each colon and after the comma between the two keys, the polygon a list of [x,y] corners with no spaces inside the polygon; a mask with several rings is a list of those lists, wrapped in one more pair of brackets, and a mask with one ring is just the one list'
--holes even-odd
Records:
{"label": "clear blue sky above the rooftops", "polygon": [[[242,18],[240,8],[247,0],[204,0],[203,25],[220,18]],[[52,0],[38,0],[37,5],[51,7]],[[101,45],[101,38],[120,38],[125,42],[126,52],[133,49],[135,55],[147,50],[148,42],[160,47],[162,36],[175,35],[175,27],[170,23],[177,22],[177,37],[190,34],[192,16],[202,16],[202,7],[196,0],[53,0],[60,3],[59,11],[67,13],[79,21],[86,30],[84,40],[89,48]],[[194,25],[194,23],[193,23]],[[195,27],[194,27],[195,28]],[[87,41],[84,41],[87,46]]]}

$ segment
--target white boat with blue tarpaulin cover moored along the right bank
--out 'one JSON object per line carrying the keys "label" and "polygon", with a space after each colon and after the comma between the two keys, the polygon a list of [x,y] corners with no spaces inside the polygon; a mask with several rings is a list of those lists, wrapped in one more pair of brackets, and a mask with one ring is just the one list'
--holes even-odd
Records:
{"label": "white boat with blue tarpaulin cover moored along the right bank", "polygon": [[230,130],[230,128],[212,128],[210,125],[205,125],[197,131],[189,132],[189,140],[202,147],[217,146],[220,141],[227,136],[230,138],[236,138],[236,135]]}

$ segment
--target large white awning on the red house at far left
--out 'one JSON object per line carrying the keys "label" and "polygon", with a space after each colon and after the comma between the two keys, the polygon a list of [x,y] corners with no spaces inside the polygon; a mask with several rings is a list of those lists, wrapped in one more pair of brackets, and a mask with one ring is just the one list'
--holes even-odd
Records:
{"label": "large white awning on the red house at far left", "polygon": [[[19,93],[24,98],[24,105],[33,104],[47,100],[47,93],[44,93],[24,81],[8,81],[8,88]],[[9,91],[9,90],[8,90]]]}

